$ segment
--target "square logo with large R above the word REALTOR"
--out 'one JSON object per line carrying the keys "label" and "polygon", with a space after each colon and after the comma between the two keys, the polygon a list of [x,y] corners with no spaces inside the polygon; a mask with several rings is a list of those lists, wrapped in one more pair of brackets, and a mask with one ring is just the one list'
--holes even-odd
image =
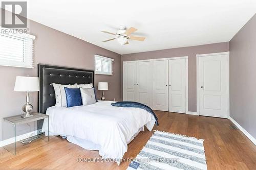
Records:
{"label": "square logo with large R above the word REALTOR", "polygon": [[2,27],[27,28],[27,2],[2,2]]}

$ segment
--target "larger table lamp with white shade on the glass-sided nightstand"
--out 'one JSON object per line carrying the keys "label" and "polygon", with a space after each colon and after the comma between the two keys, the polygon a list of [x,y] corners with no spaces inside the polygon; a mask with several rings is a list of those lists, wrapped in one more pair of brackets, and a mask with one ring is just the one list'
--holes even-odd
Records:
{"label": "larger table lamp with white shade on the glass-sided nightstand", "polygon": [[14,91],[27,92],[27,103],[22,107],[22,110],[25,112],[25,114],[22,115],[22,118],[32,117],[33,115],[31,115],[30,112],[33,109],[33,106],[29,103],[29,92],[39,91],[38,77],[17,76]]}

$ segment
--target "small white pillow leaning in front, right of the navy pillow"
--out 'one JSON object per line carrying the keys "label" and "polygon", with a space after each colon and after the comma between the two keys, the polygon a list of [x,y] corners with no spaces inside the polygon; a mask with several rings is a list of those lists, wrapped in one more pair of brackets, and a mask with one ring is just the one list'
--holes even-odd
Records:
{"label": "small white pillow leaning in front, right of the navy pillow", "polygon": [[96,103],[94,88],[80,88],[80,92],[83,106]]}

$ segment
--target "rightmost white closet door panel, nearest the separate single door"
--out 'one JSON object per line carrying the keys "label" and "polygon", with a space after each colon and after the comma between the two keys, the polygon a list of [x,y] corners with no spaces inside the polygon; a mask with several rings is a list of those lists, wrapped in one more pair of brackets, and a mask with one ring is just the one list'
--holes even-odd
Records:
{"label": "rightmost white closet door panel, nearest the separate single door", "polygon": [[169,60],[168,111],[186,113],[186,59]]}

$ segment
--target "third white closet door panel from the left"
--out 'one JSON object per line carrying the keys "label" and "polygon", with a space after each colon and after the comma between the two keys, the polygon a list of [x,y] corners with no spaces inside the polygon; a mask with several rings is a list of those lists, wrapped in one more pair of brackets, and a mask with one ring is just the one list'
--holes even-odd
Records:
{"label": "third white closet door panel from the left", "polygon": [[153,109],[168,111],[168,60],[153,61]]}

